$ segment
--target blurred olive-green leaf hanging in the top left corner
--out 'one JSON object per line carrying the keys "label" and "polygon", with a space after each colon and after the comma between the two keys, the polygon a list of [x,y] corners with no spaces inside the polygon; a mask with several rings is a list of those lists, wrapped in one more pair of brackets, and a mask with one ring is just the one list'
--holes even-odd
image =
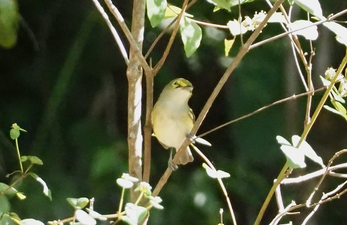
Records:
{"label": "blurred olive-green leaf hanging in the top left corner", "polygon": [[16,0],[0,0],[0,46],[11,48],[17,42],[18,4]]}

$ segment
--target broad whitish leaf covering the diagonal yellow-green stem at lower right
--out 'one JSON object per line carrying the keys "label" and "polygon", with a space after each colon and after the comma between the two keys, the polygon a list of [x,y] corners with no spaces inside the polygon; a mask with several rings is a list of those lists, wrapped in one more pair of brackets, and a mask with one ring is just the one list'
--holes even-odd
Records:
{"label": "broad whitish leaf covering the diagonal yellow-green stem at lower right", "polygon": [[282,145],[281,150],[287,157],[287,163],[289,168],[296,169],[306,167],[305,155],[302,151],[293,146],[288,145]]}

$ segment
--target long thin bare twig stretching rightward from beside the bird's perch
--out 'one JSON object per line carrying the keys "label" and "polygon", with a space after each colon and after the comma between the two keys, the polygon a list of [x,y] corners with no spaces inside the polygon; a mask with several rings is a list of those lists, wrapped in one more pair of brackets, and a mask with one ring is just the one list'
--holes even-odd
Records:
{"label": "long thin bare twig stretching rightward from beside the bird's perch", "polygon": [[237,118],[237,119],[231,120],[231,121],[229,121],[228,123],[222,124],[222,125],[220,125],[220,126],[218,126],[218,127],[215,127],[215,128],[213,128],[213,129],[211,129],[211,130],[209,130],[209,131],[207,131],[207,132],[205,132],[205,133],[203,133],[203,134],[200,134],[198,137],[203,137],[203,136],[205,136],[205,135],[207,135],[207,134],[210,134],[210,133],[214,132],[215,130],[218,130],[218,129],[222,128],[222,127],[225,127],[225,126],[227,126],[227,125],[229,125],[229,124],[235,123],[236,121],[239,121],[239,120],[241,120],[241,119],[245,119],[245,118],[247,118],[247,117],[253,116],[254,114],[257,114],[258,112],[261,112],[261,111],[263,111],[263,110],[265,110],[265,109],[268,109],[268,108],[270,108],[270,107],[272,107],[272,106],[278,105],[279,103],[286,102],[286,101],[289,101],[289,100],[293,100],[293,99],[296,99],[296,98],[299,98],[299,97],[302,97],[302,96],[310,95],[310,94],[312,94],[312,93],[314,93],[314,92],[322,91],[322,90],[324,90],[324,89],[327,89],[327,87],[324,86],[324,87],[319,88],[319,89],[317,89],[317,90],[308,91],[308,92],[305,92],[305,93],[301,93],[301,94],[299,94],[299,95],[293,95],[293,96],[290,96],[290,97],[288,97],[288,98],[275,101],[275,102],[273,102],[273,103],[271,103],[271,104],[269,104],[269,105],[263,106],[263,107],[261,107],[261,108],[255,110],[255,111],[253,111],[253,112],[251,112],[251,113],[249,113],[249,114],[247,114],[247,115],[244,115],[244,116],[239,117],[239,118]]}

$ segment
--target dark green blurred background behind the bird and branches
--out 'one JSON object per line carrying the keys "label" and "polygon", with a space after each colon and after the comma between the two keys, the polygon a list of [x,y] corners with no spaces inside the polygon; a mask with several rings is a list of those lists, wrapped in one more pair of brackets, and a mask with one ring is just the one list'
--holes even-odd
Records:
{"label": "dark green blurred background behind the bird and branches", "polygon": [[[346,1],[320,2],[324,16],[347,8]],[[130,25],[131,1],[113,3]],[[169,3],[180,7],[182,1]],[[12,48],[0,47],[0,182],[10,183],[11,178],[5,175],[19,169],[15,143],[9,137],[11,125],[17,123],[28,131],[19,137],[20,152],[43,160],[44,164],[35,166],[33,172],[48,184],[53,200],[49,201],[42,194],[42,186],[28,177],[16,186],[27,198],[11,199],[11,211],[22,219],[46,222],[73,215],[67,197],[95,197],[96,211],[115,213],[121,190],[115,181],[128,171],[126,64],[119,49],[92,1],[18,0],[18,8],[17,43]],[[212,12],[213,8],[201,0],[188,13],[197,20],[223,25],[238,17],[237,7],[231,12]],[[269,10],[264,1],[243,4],[241,8],[242,15],[251,18],[255,11]],[[306,19],[307,15],[295,7],[293,18]],[[129,49],[116,20],[111,21]],[[328,67],[338,68],[345,55],[345,46],[336,42],[333,33],[323,26],[318,29],[320,36],[313,42],[315,88],[322,86],[319,75]],[[146,18],[144,53],[161,30],[153,29]],[[226,57],[223,40],[232,38],[228,30],[202,27],[202,32],[201,46],[189,58],[178,34],[167,61],[154,79],[154,101],[172,79],[182,77],[191,81],[194,90],[189,104],[196,116],[240,47],[237,37]],[[256,42],[281,32],[279,24],[269,24]],[[249,35],[246,33],[244,40]],[[164,35],[150,54],[154,63],[160,59],[169,37]],[[300,41],[304,51],[310,53],[308,42],[303,38]],[[145,85],[143,89],[145,93]],[[232,73],[197,134],[304,91],[289,39],[262,45],[247,53]],[[315,93],[312,112],[322,95],[323,92]],[[273,179],[286,161],[276,135],[288,140],[292,135],[301,135],[306,100],[302,97],[282,103],[204,136],[212,147],[199,146],[200,150],[217,169],[231,174],[224,181],[238,224],[254,223]],[[323,109],[307,142],[326,164],[335,152],[347,146],[346,121]],[[150,177],[153,188],[167,168],[168,156],[169,152],[153,138]],[[218,224],[220,208],[225,209],[223,222],[231,224],[218,182],[205,174],[202,160],[194,157],[193,163],[172,173],[159,195],[164,210],[151,210],[149,224]],[[339,162],[346,159],[341,156]],[[293,177],[319,169],[310,160],[306,163],[307,167],[295,170]],[[298,204],[305,202],[316,182],[318,179],[282,187],[285,205],[291,200]],[[321,191],[330,191],[342,182],[329,178]],[[341,224],[347,219],[346,200],[342,196],[324,204],[310,224]],[[271,201],[262,224],[271,222],[277,210],[276,202]],[[303,210],[302,215],[286,217],[282,223],[290,219],[301,224],[308,212]]]}

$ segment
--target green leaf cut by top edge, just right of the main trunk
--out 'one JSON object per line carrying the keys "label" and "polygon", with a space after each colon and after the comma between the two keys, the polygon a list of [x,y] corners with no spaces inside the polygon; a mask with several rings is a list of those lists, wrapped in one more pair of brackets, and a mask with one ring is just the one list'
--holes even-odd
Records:
{"label": "green leaf cut by top edge, just right of the main trunk", "polygon": [[158,26],[164,19],[167,5],[166,0],[146,0],[147,16],[152,27]]}

